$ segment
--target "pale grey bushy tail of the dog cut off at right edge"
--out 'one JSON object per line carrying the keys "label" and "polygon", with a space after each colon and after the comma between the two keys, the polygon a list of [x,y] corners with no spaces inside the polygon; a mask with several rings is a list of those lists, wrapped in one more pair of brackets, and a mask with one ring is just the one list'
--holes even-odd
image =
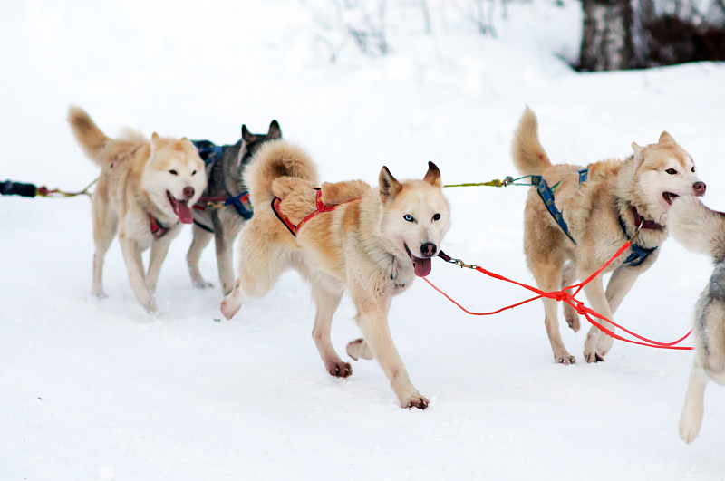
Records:
{"label": "pale grey bushy tail of the dog cut off at right edge", "polygon": [[692,251],[725,259],[725,213],[705,207],[693,196],[672,201],[667,213],[667,227],[672,237]]}

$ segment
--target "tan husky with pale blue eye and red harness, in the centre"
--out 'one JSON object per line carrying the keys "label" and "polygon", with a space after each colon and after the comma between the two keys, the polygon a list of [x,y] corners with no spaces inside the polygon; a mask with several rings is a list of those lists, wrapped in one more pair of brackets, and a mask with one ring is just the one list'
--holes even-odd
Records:
{"label": "tan husky with pale blue eye and red harness, in the centre", "polygon": [[[353,371],[334,351],[330,326],[347,291],[363,336],[347,345],[347,353],[354,360],[377,359],[401,407],[425,409],[428,399],[413,387],[392,342],[388,311],[392,296],[416,275],[430,274],[449,229],[440,171],[428,165],[422,180],[399,182],[383,167],[374,188],[353,180],[324,183],[317,192],[317,170],[304,150],[285,140],[267,142],[245,173],[255,215],[239,236],[239,276],[221,303],[224,316],[237,313],[245,294],[266,294],[293,267],[312,284],[312,335],[324,367],[344,378]],[[339,208],[329,212],[329,206]],[[315,208],[324,213],[308,216]]]}

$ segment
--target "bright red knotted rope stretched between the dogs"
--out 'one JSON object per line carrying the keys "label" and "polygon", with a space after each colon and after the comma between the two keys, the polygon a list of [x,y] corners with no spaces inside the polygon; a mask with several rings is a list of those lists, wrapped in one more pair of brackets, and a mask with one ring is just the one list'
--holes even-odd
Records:
{"label": "bright red knotted rope stretched between the dogs", "polygon": [[[435,289],[439,293],[443,294],[443,296],[445,296],[445,298],[448,299],[451,303],[456,304],[460,308],[461,311],[463,311],[464,313],[471,314],[471,315],[493,315],[493,314],[498,314],[498,313],[501,313],[503,311],[506,311],[507,309],[513,309],[514,307],[517,307],[517,306],[519,306],[521,304],[530,303],[531,301],[536,301],[536,299],[541,299],[542,297],[546,297],[548,299],[554,299],[555,301],[565,302],[565,303],[569,304],[570,306],[572,306],[576,310],[577,313],[580,313],[583,316],[585,316],[585,319],[588,322],[592,323],[594,326],[596,326],[597,329],[599,329],[600,331],[604,332],[606,335],[608,335],[608,336],[610,336],[610,337],[612,337],[614,339],[617,339],[617,340],[620,340],[620,341],[623,341],[623,342],[630,342],[632,344],[638,344],[640,346],[647,346],[647,347],[653,347],[653,348],[658,348],[658,349],[672,349],[672,350],[690,351],[692,349],[690,346],[678,346],[677,344],[679,344],[680,342],[682,342],[685,339],[687,339],[687,337],[691,334],[692,331],[688,332],[687,334],[685,334],[684,336],[682,336],[677,341],[673,341],[673,342],[659,342],[659,341],[654,341],[654,340],[649,339],[649,338],[646,338],[646,337],[644,337],[644,336],[642,336],[640,334],[637,334],[636,332],[632,332],[629,329],[624,328],[623,326],[617,324],[616,322],[613,322],[611,319],[607,319],[602,314],[596,313],[593,309],[591,309],[589,307],[586,307],[585,306],[585,303],[583,303],[583,302],[581,302],[581,301],[579,301],[578,299],[575,298],[576,294],[578,294],[579,292],[581,292],[582,288],[584,288],[584,286],[586,284],[589,284],[590,282],[592,282],[597,275],[602,274],[602,271],[604,271],[604,269],[606,269],[606,267],[608,265],[612,264],[614,262],[614,259],[616,259],[620,255],[622,255],[622,253],[625,250],[627,250],[629,247],[630,247],[630,242],[627,241],[622,247],[620,247],[620,249],[607,262],[604,263],[604,265],[602,265],[602,267],[600,267],[596,272],[594,272],[594,274],[592,274],[589,277],[587,277],[585,279],[585,281],[583,281],[583,282],[581,282],[579,284],[573,284],[573,285],[570,285],[568,287],[565,287],[561,291],[552,291],[550,293],[547,293],[547,292],[542,291],[540,289],[536,289],[536,287],[533,287],[531,285],[527,285],[527,284],[519,283],[517,281],[513,281],[511,279],[508,279],[507,277],[504,277],[503,275],[492,273],[490,271],[487,271],[483,267],[473,266],[473,268],[475,270],[477,270],[479,273],[486,274],[489,277],[493,277],[494,279],[498,279],[499,281],[505,281],[507,283],[517,284],[517,285],[519,285],[519,286],[521,286],[521,287],[523,287],[525,289],[528,289],[529,291],[537,294],[536,296],[534,296],[534,297],[532,297],[530,299],[527,299],[526,301],[521,301],[520,303],[515,303],[515,304],[507,305],[506,307],[502,307],[502,308],[500,308],[500,309],[498,309],[496,311],[491,311],[489,313],[474,313],[474,312],[471,312],[468,309],[466,309],[465,307],[463,307],[460,303],[456,302],[447,293],[444,293],[443,291],[441,291],[438,287],[436,287],[433,283],[431,283],[428,280],[428,278],[423,277],[423,280],[425,282],[427,282],[428,284],[430,284],[430,286],[433,289]],[[575,290],[574,293],[567,293],[566,291],[568,291],[569,289],[576,289],[576,290]],[[610,329],[607,329],[601,323],[594,321],[593,317],[599,319],[600,321],[609,322],[615,328],[621,329],[623,332],[626,332],[627,334],[633,336],[634,338],[638,339],[639,341],[633,341],[632,339],[627,339],[627,338],[625,338],[625,337],[623,337],[623,336],[621,336],[621,335],[619,335],[619,334],[611,331]]]}

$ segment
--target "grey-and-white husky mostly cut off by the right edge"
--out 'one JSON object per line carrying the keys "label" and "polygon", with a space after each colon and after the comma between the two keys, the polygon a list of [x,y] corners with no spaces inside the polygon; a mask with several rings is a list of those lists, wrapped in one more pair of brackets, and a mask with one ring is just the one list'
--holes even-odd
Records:
{"label": "grey-and-white husky mostly cut off by the right edge", "polygon": [[695,307],[695,359],[680,417],[680,437],[690,443],[700,431],[708,381],[725,386],[725,213],[682,197],[672,202],[667,226],[675,240],[715,261],[710,284]]}

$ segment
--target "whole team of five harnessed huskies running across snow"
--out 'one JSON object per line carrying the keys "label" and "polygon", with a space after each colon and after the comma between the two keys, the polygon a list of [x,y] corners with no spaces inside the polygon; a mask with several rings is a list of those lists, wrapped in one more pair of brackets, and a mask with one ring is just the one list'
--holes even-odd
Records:
{"label": "whole team of five harnessed huskies running across snow", "polygon": [[[428,163],[421,179],[398,180],[382,167],[376,186],[362,180],[321,183],[313,159],[282,139],[275,120],[266,134],[242,126],[241,139],[227,146],[156,133],[146,139],[132,131],[111,139],[75,107],[68,120],[83,151],[101,168],[92,197],[92,294],[105,296],[103,259],[118,234],[133,293],[155,312],[154,293],[169,244],[182,224],[193,224],[187,255],[191,280],[211,286],[198,261],[214,238],[225,294],[220,308],[227,319],[247,296],[265,295],[293,268],[312,286],[313,339],[325,370],[336,377],[352,374],[330,339],[333,314],[347,292],[362,331],[362,338],[347,344],[348,356],[377,360],[401,407],[428,406],[392,342],[387,317],[393,296],[416,276],[430,274],[449,230],[449,203],[435,164]],[[606,287],[601,275],[585,286],[594,311],[608,319],[656,261],[669,232],[713,257],[715,270],[696,305],[695,359],[680,420],[681,438],[689,443],[701,426],[707,382],[725,384],[725,214],[696,198],[706,186],[691,156],[669,133],[643,147],[633,142],[632,149],[626,159],[586,167],[552,164],[538,139],[536,115],[527,108],[512,146],[520,174],[537,179],[524,209],[524,254],[538,287],[550,292],[588,277],[631,240],[632,247],[604,271],[612,273]],[[231,245],[237,236],[235,281]],[[149,247],[145,269],[141,253]],[[561,339],[556,301],[545,298],[544,311],[554,359],[575,362]],[[564,317],[577,332],[575,309],[565,304]],[[593,326],[585,339],[585,360],[604,361],[612,344]]]}

